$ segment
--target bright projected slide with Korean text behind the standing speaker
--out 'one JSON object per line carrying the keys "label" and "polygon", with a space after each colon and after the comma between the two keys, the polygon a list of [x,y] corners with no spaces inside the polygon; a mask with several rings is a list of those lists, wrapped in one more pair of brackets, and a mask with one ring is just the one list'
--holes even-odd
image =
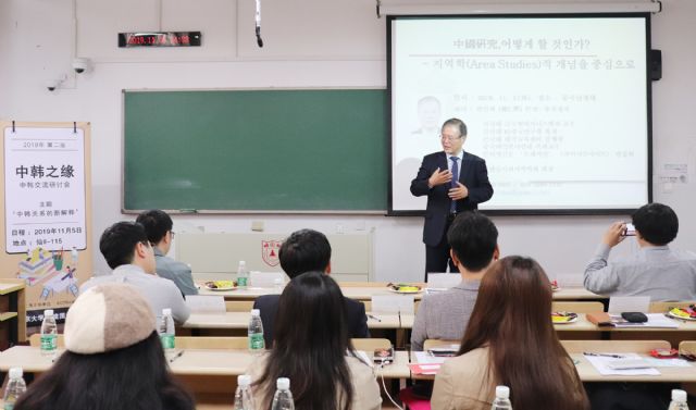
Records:
{"label": "bright projected slide with Korean text behind the standing speaker", "polygon": [[495,194],[480,208],[595,211],[648,200],[647,16],[390,20],[391,209],[439,126],[467,123]]}

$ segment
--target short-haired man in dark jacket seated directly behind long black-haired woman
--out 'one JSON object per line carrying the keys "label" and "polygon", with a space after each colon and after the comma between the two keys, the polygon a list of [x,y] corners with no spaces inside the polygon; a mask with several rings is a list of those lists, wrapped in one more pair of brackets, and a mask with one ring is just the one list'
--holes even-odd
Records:
{"label": "short-haired man in dark jacket seated directly behind long black-haired woman", "polygon": [[[294,232],[281,246],[278,259],[283,271],[290,279],[310,271],[331,273],[331,245],[321,232],[312,229]],[[266,348],[272,347],[273,344],[273,325],[279,298],[279,295],[265,295],[253,302],[253,309],[261,311]],[[344,297],[344,305],[350,337],[370,337],[365,306],[346,297]]]}

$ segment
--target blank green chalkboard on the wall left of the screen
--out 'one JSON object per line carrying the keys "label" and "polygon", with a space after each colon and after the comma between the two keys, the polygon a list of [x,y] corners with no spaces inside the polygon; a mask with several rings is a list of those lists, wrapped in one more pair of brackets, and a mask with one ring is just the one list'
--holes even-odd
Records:
{"label": "blank green chalkboard on the wall left of the screen", "polygon": [[123,209],[384,211],[384,89],[124,91]]}

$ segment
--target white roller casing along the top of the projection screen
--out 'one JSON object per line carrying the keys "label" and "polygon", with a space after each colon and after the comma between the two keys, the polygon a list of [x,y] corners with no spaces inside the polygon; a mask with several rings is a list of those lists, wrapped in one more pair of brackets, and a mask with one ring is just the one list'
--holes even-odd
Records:
{"label": "white roller casing along the top of the projection screen", "polygon": [[537,3],[422,3],[409,0],[378,0],[378,15],[440,15],[440,14],[551,14],[551,13],[659,13],[657,1],[584,1]]}

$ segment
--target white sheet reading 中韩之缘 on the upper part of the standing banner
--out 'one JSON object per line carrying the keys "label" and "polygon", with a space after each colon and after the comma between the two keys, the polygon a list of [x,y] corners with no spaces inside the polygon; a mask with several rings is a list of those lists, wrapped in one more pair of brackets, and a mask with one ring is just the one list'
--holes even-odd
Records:
{"label": "white sheet reading \u4e2d\u97e9\u4e4b\u7f18 on the upper part of the standing banner", "polygon": [[4,203],[8,253],[85,249],[83,129],[7,127]]}

